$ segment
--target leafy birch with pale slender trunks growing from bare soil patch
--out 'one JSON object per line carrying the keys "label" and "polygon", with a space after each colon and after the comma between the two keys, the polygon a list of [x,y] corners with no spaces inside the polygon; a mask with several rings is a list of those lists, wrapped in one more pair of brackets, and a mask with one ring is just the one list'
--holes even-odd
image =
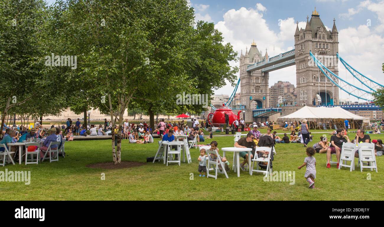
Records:
{"label": "leafy birch with pale slender trunks growing from bare soil patch", "polygon": [[123,114],[132,100],[152,101],[151,93],[159,84],[169,93],[178,84],[188,86],[187,44],[193,11],[185,0],[69,0],[64,4],[64,23],[58,33],[65,40],[59,40],[78,52],[74,79],[94,94],[88,97],[93,107],[108,111],[112,122],[118,119],[117,151],[112,137],[113,161],[118,164]]}

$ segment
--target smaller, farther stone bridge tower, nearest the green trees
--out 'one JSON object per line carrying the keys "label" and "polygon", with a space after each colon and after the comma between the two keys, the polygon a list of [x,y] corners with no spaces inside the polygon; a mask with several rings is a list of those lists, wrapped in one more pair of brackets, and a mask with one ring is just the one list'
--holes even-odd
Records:
{"label": "smaller, farther stone bridge tower, nearest the green trees", "polygon": [[249,52],[247,48],[245,55],[243,55],[243,51],[240,55],[240,102],[245,105],[246,109],[269,107],[269,73],[262,72],[262,70],[247,72],[248,65],[261,62],[264,59],[269,59],[267,50],[262,56],[255,40],[253,40]]}

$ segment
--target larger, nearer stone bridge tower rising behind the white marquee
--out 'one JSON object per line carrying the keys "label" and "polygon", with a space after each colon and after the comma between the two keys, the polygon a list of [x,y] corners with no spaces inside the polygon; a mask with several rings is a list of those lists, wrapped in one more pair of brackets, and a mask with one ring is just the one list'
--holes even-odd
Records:
{"label": "larger, nearer stone bridge tower rising behind the white marquee", "polygon": [[298,23],[295,32],[295,63],[296,63],[296,84],[297,84],[297,105],[319,105],[318,96],[321,98],[321,105],[338,105],[339,88],[331,82],[311,60],[310,51],[338,75],[338,59],[336,53],[339,51],[338,31],[333,19],[332,31],[327,31],[320,19],[319,13],[312,11],[311,20],[308,21],[305,29],[299,30]]}

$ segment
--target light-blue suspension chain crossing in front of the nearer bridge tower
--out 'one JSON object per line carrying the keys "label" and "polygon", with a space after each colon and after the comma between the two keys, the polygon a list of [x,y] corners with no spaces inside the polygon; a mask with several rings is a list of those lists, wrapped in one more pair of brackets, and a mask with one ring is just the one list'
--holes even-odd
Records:
{"label": "light-blue suspension chain crossing in front of the nearer bridge tower", "polygon": [[316,63],[317,67],[321,70],[321,72],[328,77],[331,82],[339,87],[344,92],[348,93],[349,95],[352,95],[358,99],[363,99],[366,101],[372,100],[372,92],[364,90],[362,88],[356,87],[355,85],[347,82],[346,80],[343,80],[338,75],[334,74],[331,70],[329,70],[327,67],[325,67],[319,60],[310,52],[310,56]]}

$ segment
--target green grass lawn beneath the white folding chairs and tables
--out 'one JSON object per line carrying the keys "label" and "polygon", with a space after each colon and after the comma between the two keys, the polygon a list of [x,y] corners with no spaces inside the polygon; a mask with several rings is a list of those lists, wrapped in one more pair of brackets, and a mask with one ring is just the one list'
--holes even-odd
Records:
{"label": "green grass lawn beneath the white folding chairs and tables", "polygon": [[[354,134],[349,133],[349,137]],[[319,134],[315,134],[314,142]],[[328,136],[329,138],[330,136]],[[384,135],[372,135],[384,139]],[[233,137],[215,137],[218,147],[233,147]],[[207,144],[206,140],[200,144]],[[314,142],[310,142],[309,146]],[[316,189],[308,189],[304,179],[305,167],[298,170],[306,157],[301,144],[276,144],[274,171],[296,171],[295,184],[264,182],[262,174],[250,176],[232,171],[232,153],[227,153],[231,166],[229,179],[219,174],[218,179],[199,177],[198,149],[191,149],[192,164],[181,166],[162,162],[147,163],[128,169],[92,169],[89,164],[111,162],[111,140],[71,141],[66,144],[65,158],[59,162],[39,165],[5,165],[14,171],[31,171],[31,183],[0,182],[2,200],[382,200],[384,198],[384,157],[376,157],[379,172],[359,169],[326,169],[326,155],[316,154]],[[122,160],[146,162],[154,156],[153,144],[128,144],[123,140]],[[220,150],[220,154],[222,151]],[[241,159],[240,159],[241,160]],[[355,159],[357,162],[357,159]],[[241,170],[240,170],[241,171]],[[101,180],[101,174],[105,180]],[[194,180],[190,180],[190,173]],[[371,180],[367,180],[367,174]]]}

